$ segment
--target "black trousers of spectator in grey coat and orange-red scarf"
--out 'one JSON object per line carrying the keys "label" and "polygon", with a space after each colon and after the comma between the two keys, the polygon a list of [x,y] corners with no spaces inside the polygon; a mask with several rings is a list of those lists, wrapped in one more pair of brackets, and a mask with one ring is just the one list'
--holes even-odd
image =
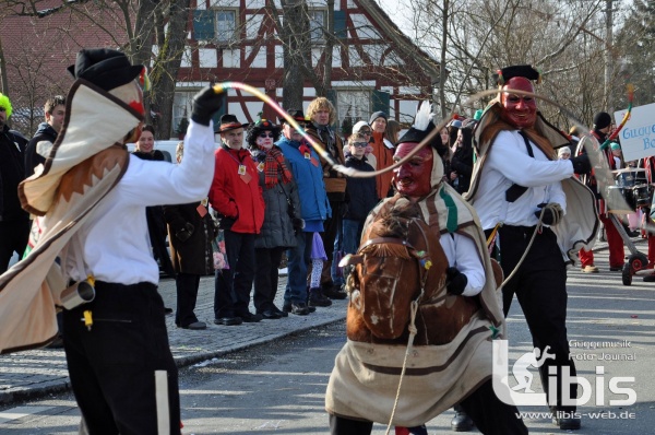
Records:
{"label": "black trousers of spectator in grey coat and orange-red scarf", "polygon": [[285,248],[255,248],[254,261],[254,294],[252,302],[257,313],[275,309],[275,295],[277,294],[278,268]]}

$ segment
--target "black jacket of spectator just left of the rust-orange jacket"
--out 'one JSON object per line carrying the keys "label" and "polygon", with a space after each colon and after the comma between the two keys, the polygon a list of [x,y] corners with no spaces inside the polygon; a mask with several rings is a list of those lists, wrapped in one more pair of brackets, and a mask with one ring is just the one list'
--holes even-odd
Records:
{"label": "black jacket of spectator just left of the rust-orange jacket", "polygon": [[[346,167],[353,167],[361,172],[373,172],[373,167],[367,163],[366,157],[360,160],[350,155],[346,157]],[[348,178],[346,191],[349,202],[344,219],[365,221],[378,203],[376,178]]]}

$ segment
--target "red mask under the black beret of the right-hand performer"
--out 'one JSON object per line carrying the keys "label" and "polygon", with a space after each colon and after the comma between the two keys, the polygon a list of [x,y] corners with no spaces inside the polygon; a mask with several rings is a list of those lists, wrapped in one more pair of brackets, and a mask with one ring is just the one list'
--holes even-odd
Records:
{"label": "red mask under the black beret of the right-hand performer", "polygon": [[500,117],[520,129],[534,126],[537,120],[537,102],[528,95],[512,94],[512,90],[535,92],[532,82],[525,78],[515,77],[508,80],[500,94],[503,107]]}

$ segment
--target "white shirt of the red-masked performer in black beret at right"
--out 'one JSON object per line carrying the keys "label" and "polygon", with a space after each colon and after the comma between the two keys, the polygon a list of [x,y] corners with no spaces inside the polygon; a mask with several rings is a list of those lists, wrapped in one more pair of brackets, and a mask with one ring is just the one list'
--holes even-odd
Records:
{"label": "white shirt of the red-masked performer in black beret at right", "polygon": [[[483,167],[474,207],[484,230],[498,222],[508,225],[534,226],[538,204],[556,202],[567,211],[567,197],[561,180],[573,175],[571,161],[550,161],[537,145],[529,142],[534,157],[525,148],[519,130],[501,131]],[[505,201],[505,191],[513,185],[528,189],[514,202]]]}

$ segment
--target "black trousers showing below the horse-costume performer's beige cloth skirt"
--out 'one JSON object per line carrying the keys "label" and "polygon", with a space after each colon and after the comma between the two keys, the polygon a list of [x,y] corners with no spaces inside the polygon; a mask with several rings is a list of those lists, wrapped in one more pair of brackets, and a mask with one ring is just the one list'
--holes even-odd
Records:
{"label": "black trousers showing below the horse-costume performer's beige cloth skirt", "polygon": [[[480,385],[460,404],[483,434],[527,434],[527,427],[517,415],[516,407],[501,402],[493,393],[491,379]],[[330,415],[330,433],[332,435],[366,435],[371,433],[372,427],[373,423],[371,422]]]}

